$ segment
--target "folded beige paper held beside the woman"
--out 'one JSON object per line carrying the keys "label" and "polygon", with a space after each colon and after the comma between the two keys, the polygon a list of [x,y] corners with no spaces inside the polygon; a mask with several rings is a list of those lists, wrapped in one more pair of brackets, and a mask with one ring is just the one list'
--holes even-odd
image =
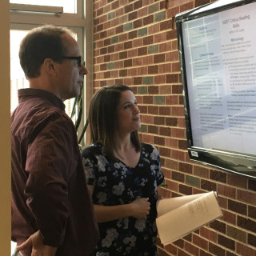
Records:
{"label": "folded beige paper held beside the woman", "polygon": [[[172,201],[174,202],[173,205]],[[172,206],[168,208],[167,204]],[[167,208],[169,210],[175,209],[162,214],[166,212]],[[159,238],[164,246],[190,234],[206,223],[222,217],[222,210],[218,206],[214,191],[193,196],[162,199],[158,202],[158,209],[162,216],[158,214],[159,217],[156,222]]]}

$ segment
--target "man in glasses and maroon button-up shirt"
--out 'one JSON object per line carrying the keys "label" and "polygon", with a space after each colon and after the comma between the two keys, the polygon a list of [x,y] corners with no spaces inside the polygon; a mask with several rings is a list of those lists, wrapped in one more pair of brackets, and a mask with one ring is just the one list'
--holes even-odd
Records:
{"label": "man in glasses and maroon button-up shirt", "polygon": [[73,122],[63,101],[80,93],[78,42],[70,30],[41,26],[22,40],[30,88],[12,114],[12,240],[28,256],[86,256],[98,242]]}

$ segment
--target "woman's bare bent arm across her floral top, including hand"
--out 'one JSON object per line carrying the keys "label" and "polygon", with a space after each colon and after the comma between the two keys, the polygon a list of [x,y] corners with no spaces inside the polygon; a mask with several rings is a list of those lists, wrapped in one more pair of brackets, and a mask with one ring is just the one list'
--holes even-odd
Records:
{"label": "woman's bare bent arm across her floral top, including hand", "polygon": [[[88,185],[90,194],[94,193],[94,186]],[[114,219],[134,217],[146,218],[150,214],[148,198],[138,198],[129,204],[119,206],[94,205],[97,222],[110,222]]]}

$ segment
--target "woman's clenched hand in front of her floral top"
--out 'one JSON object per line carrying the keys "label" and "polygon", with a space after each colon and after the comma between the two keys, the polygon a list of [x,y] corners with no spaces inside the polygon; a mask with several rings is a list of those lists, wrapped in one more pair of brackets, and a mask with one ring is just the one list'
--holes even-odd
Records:
{"label": "woman's clenched hand in front of her floral top", "polygon": [[130,203],[130,216],[134,218],[146,218],[150,214],[149,198],[138,198]]}

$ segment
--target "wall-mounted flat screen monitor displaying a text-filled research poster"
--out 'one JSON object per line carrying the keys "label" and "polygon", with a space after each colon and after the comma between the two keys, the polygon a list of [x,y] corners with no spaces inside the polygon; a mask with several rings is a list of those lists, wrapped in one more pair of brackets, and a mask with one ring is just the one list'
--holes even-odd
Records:
{"label": "wall-mounted flat screen monitor displaying a text-filled research poster", "polygon": [[190,159],[256,179],[256,0],[175,17]]}

